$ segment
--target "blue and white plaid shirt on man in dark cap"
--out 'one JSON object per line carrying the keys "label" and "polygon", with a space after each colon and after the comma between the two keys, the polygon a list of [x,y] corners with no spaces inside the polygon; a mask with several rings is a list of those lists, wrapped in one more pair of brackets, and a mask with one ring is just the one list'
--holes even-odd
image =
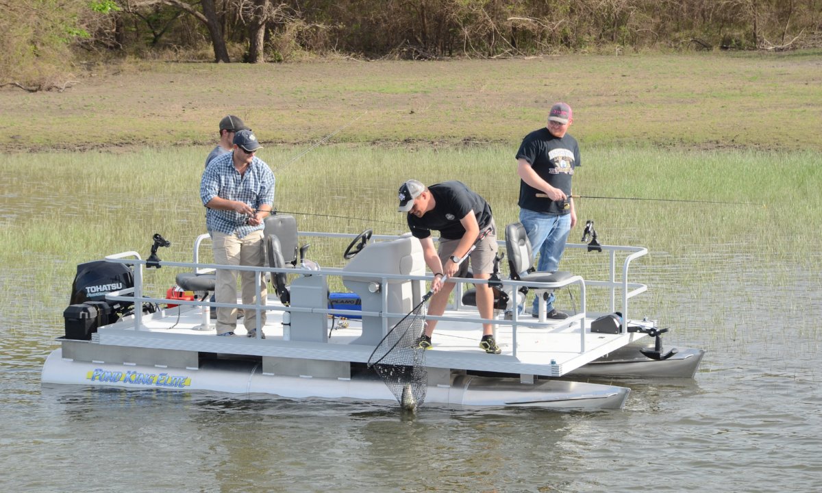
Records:
{"label": "blue and white plaid shirt on man in dark cap", "polygon": [[[261,205],[274,205],[274,173],[265,161],[254,156],[242,176],[234,168],[233,152],[222,154],[211,159],[205,167],[200,182],[200,198],[203,205],[216,196],[226,200],[238,200],[246,203],[253,210]],[[233,210],[206,209],[205,228],[209,232],[236,234],[245,237],[248,233],[262,229],[263,225],[250,226],[248,216]]]}

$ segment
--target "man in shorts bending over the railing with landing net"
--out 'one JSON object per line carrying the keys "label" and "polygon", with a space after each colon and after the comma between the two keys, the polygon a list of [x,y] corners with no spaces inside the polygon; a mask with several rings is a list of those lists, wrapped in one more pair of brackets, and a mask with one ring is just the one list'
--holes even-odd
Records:
{"label": "man in shorts bending over the railing with landing net", "polygon": [[[423,245],[423,256],[428,268],[434,273],[431,284],[435,293],[431,297],[428,313],[441,316],[446,311],[448,297],[454,283],[443,283],[443,277],[465,277],[468,262],[461,261],[469,255],[479,233],[491,228],[491,233],[477,243],[469,255],[471,270],[476,279],[488,279],[493,273],[496,256],[496,224],[491,205],[483,197],[462,182],[442,182],[425,187],[417,180],[409,180],[399,187],[399,212],[408,213],[409,228],[413,237]],[[440,249],[436,250],[431,230],[440,232]],[[477,309],[479,316],[490,320],[494,313],[494,294],[488,284],[478,283]],[[436,320],[427,320],[425,333],[417,341],[417,347],[432,348],[431,336]],[[490,354],[500,354],[494,340],[493,325],[483,324],[483,339],[479,347]]]}

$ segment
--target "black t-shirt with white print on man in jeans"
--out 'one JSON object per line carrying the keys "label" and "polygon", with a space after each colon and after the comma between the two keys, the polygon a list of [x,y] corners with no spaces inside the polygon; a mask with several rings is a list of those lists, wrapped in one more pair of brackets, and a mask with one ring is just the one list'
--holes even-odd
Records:
{"label": "black t-shirt with white print on man in jeans", "polygon": [[[568,134],[562,138],[553,136],[546,127],[532,131],[522,140],[516,159],[525,159],[539,177],[543,178],[552,187],[559,188],[570,196],[570,180],[574,176],[574,168],[582,164],[580,159],[580,145],[576,139]],[[520,180],[520,202],[523,209],[548,212],[551,214],[568,214],[570,210],[563,209],[562,201],[555,201],[538,197],[541,190],[531,187]]]}

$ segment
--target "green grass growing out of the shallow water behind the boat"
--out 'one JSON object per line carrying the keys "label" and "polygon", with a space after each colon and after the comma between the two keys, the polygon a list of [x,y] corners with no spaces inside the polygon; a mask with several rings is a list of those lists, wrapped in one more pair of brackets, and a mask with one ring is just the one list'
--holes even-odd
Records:
{"label": "green grass growing out of the shallow water behind the boat", "polygon": [[[270,147],[261,158],[273,168],[302,148]],[[502,146],[407,151],[393,147],[326,145],[279,168],[275,207],[298,213],[302,230],[403,233],[396,189],[410,177],[428,184],[459,179],[492,204],[497,224],[517,220],[514,149]],[[43,153],[0,156],[7,210],[0,227],[2,265],[62,260],[59,277],[76,263],[115,251],[147,256],[150,237],[173,247],[164,260],[187,261],[204,233],[199,181],[205,148],[144,149],[136,153]],[[581,234],[594,220],[602,242],[640,244],[676,255],[694,245],[735,243],[754,255],[798,260],[822,240],[822,156],[811,151],[713,150],[647,147],[589,148],[575,176],[575,193],[670,200],[750,202],[700,204],[581,198]],[[343,216],[335,218],[329,216]],[[134,220],[133,218],[136,218]],[[340,265],[345,242],[312,246],[321,265]],[[700,274],[703,275],[703,274]]]}

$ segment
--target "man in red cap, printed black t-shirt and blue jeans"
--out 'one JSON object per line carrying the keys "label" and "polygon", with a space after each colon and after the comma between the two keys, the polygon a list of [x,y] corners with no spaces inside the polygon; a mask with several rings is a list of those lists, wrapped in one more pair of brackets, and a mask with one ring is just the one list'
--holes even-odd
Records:
{"label": "man in red cap, printed black t-shirt and blue jeans", "polygon": [[[537,270],[556,272],[570,229],[576,224],[576,209],[571,197],[571,177],[582,164],[580,145],[568,134],[574,122],[566,103],[556,103],[548,113],[548,124],[532,131],[517,150],[520,175],[520,223],[528,233],[533,255],[539,252]],[[568,318],[553,306],[554,293],[548,296],[546,316],[553,320]],[[532,315],[538,317],[538,300],[533,300]]]}

